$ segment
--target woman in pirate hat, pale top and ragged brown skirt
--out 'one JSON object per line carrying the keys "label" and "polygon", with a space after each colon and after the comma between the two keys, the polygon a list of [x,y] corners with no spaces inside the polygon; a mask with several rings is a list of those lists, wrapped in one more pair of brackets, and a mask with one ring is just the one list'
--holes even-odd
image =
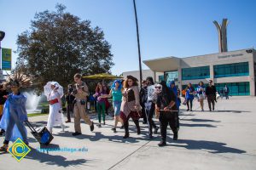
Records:
{"label": "woman in pirate hat, pale top and ragged brown skirt", "polygon": [[139,112],[142,111],[142,108],[140,105],[139,88],[136,77],[127,76],[122,95],[120,118],[123,120],[125,127],[125,136],[123,138],[127,139],[129,138],[128,127],[130,117],[137,127],[137,134],[141,133],[138,120],[140,118]]}

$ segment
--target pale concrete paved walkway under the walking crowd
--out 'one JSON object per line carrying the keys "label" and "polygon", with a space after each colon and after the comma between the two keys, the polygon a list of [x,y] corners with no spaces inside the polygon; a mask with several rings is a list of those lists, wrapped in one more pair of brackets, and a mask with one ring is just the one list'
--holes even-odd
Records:
{"label": "pale concrete paved walkway under the walking crowd", "polygon": [[[218,100],[215,112],[201,112],[194,102],[193,112],[182,106],[179,139],[172,140],[169,129],[168,145],[158,147],[160,134],[146,140],[147,127],[137,135],[131,122],[131,138],[122,139],[124,130],[113,133],[113,121],[95,127],[82,124],[83,135],[73,137],[73,122],[67,123],[66,132],[54,128],[52,144],[48,148],[85,148],[85,152],[39,152],[38,142],[29,133],[32,151],[20,162],[10,154],[0,155],[0,169],[256,169],[256,98],[232,97]],[[96,117],[96,116],[94,116]],[[46,124],[47,116],[30,117],[35,125]],[[94,118],[96,122],[96,118]],[[30,132],[30,131],[29,131]],[[3,143],[3,137],[0,138]]]}

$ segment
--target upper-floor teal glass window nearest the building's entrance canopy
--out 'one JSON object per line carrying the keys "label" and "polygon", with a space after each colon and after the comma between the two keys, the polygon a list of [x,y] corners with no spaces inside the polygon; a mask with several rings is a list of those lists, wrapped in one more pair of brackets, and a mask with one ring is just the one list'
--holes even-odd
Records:
{"label": "upper-floor teal glass window nearest the building's entrance canopy", "polygon": [[183,80],[196,80],[210,78],[210,66],[192,67],[182,69]]}

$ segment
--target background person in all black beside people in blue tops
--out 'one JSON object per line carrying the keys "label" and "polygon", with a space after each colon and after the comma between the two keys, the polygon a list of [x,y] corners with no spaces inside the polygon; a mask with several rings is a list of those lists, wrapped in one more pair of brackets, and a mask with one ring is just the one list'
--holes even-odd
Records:
{"label": "background person in all black beside people in blue tops", "polygon": [[217,90],[215,86],[212,84],[212,80],[210,80],[209,86],[207,86],[207,89],[206,89],[209,111],[214,111],[215,109],[214,106],[215,106],[216,92]]}

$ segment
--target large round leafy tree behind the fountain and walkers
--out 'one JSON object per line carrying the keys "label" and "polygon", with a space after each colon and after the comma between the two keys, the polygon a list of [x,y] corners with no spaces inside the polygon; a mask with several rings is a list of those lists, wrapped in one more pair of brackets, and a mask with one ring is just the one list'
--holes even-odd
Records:
{"label": "large round leafy tree behind the fountain and walkers", "polygon": [[102,29],[66,12],[62,4],[55,8],[35,14],[30,30],[17,39],[16,69],[34,77],[38,92],[46,82],[56,81],[66,88],[77,72],[110,73],[113,66],[111,46]]}

